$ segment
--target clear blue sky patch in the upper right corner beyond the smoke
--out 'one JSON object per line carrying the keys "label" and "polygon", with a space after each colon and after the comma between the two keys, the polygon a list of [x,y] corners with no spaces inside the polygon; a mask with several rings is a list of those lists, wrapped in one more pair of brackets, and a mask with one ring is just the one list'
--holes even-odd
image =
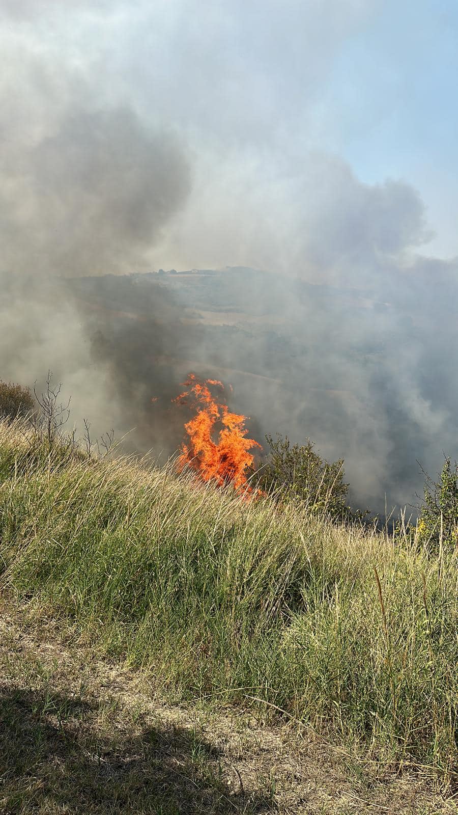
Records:
{"label": "clear blue sky patch in the upper right corner beyond the smoke", "polygon": [[458,4],[384,2],[342,43],[325,98],[330,148],[368,183],[416,186],[437,233],[429,250],[458,254]]}

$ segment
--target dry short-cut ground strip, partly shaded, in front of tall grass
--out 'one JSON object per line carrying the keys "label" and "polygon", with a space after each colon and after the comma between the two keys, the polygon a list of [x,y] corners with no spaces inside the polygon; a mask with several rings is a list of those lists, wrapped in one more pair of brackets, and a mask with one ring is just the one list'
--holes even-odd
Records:
{"label": "dry short-cut ground strip, partly shaded, in front of tall grass", "polygon": [[157,698],[43,610],[0,608],[2,813],[457,813],[420,772],[297,724]]}

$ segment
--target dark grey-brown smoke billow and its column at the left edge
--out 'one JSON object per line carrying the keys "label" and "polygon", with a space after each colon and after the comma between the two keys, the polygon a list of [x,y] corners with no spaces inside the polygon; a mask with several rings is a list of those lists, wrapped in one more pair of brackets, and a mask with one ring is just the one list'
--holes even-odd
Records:
{"label": "dark grey-brown smoke billow and its column at the left edge", "polygon": [[3,379],[30,384],[50,367],[80,425],[90,416],[97,432],[129,429],[113,398],[120,374],[95,364],[87,315],[61,278],[142,267],[188,183],[176,140],[126,108],[66,113],[54,133],[10,155],[0,187]]}

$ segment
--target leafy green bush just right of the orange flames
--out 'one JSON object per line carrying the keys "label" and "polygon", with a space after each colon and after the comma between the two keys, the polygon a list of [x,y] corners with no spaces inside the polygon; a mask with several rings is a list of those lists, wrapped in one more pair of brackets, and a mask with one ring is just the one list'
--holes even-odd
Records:
{"label": "leafy green bush just right of the orange flames", "polygon": [[321,458],[314,445],[290,445],[288,436],[277,434],[276,440],[266,435],[269,453],[258,470],[258,485],[266,492],[281,491],[288,500],[299,499],[312,510],[322,510],[331,518],[343,518],[350,512],[346,506],[348,484],[344,482],[343,459],[329,462]]}

